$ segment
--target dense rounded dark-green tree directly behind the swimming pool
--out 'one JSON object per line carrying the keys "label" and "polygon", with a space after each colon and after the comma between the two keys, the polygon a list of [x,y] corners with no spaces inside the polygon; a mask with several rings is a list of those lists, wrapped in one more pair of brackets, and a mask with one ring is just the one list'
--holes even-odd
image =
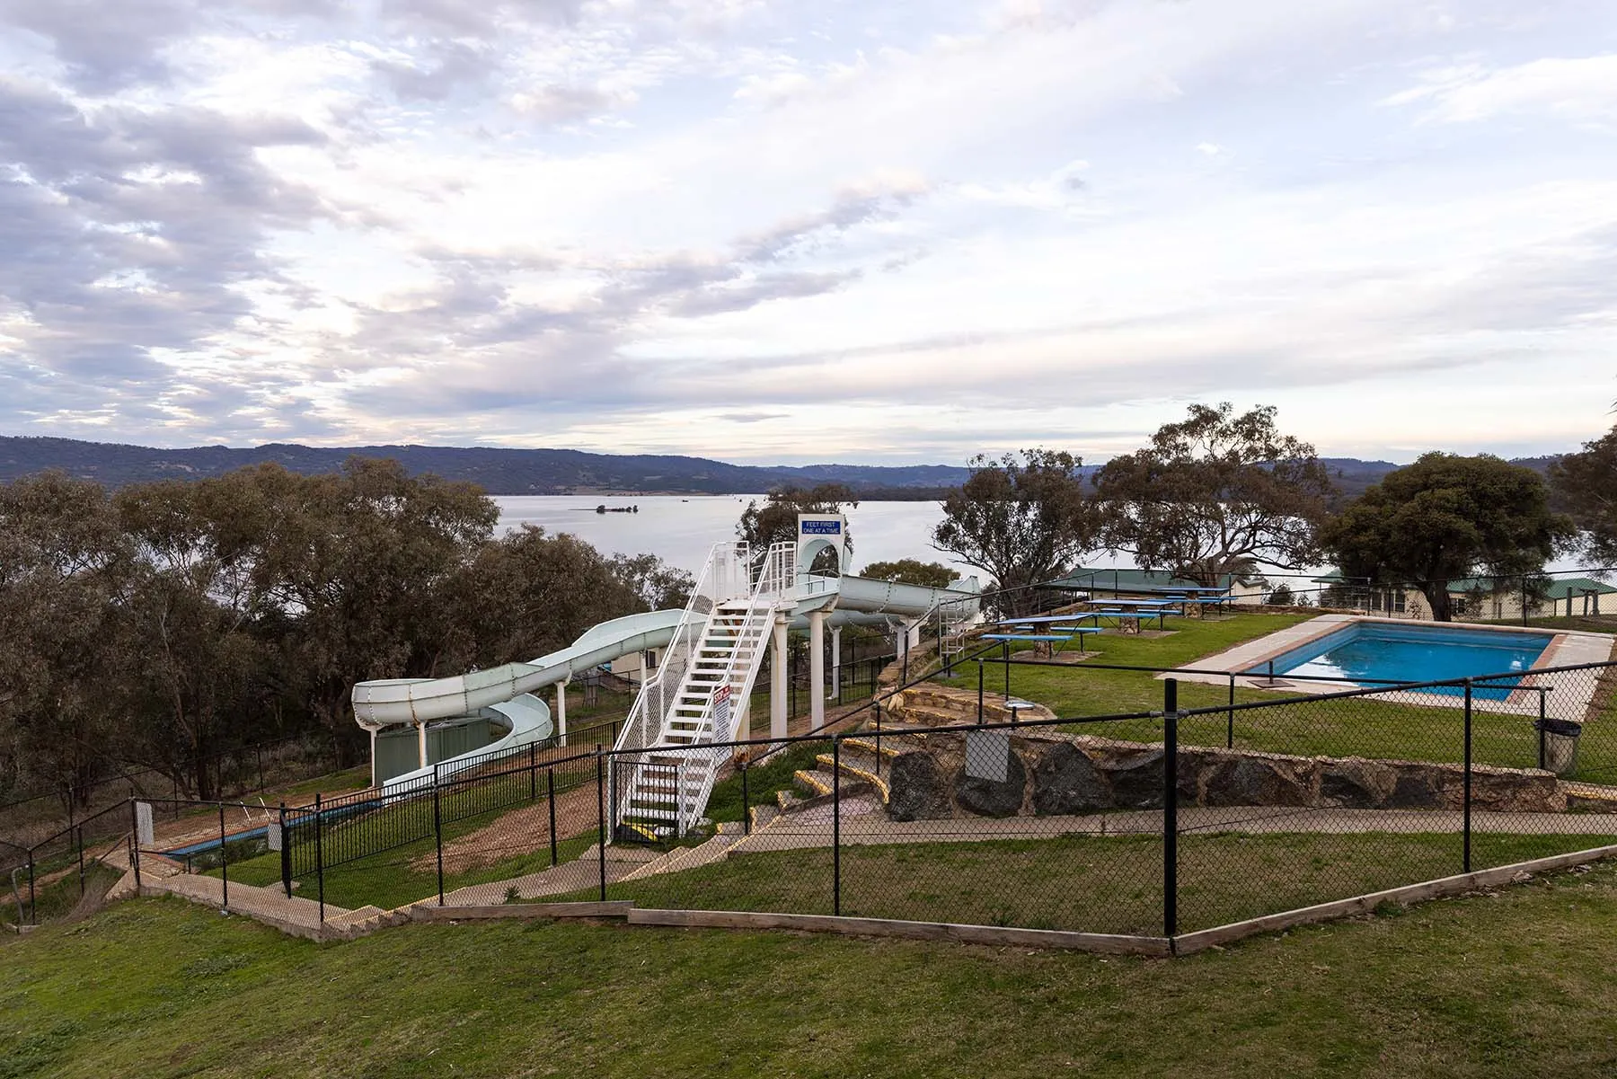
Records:
{"label": "dense rounded dark-green tree directly behind the swimming pool", "polygon": [[1433,618],[1449,621],[1450,581],[1536,576],[1572,535],[1533,469],[1428,453],[1349,503],[1321,545],[1349,576],[1418,587]]}

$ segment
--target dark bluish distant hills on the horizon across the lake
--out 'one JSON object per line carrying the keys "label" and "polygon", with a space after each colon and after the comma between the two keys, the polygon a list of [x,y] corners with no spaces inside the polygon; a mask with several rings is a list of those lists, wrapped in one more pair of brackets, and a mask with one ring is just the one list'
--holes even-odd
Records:
{"label": "dark bluish distant hills on the horizon across the lake", "polygon": [[[741,495],[783,484],[846,484],[867,500],[941,498],[970,476],[952,464],[804,464],[749,466],[673,455],[584,453],[581,450],[495,450],[485,446],[353,446],[327,450],[293,443],[264,446],[192,446],[155,450],[76,438],[0,437],[0,482],[58,468],[108,487],[154,479],[204,479],[247,464],[275,461],[294,472],[333,472],[353,455],[395,458],[411,474],[435,472],[480,484],[490,495],[652,493]],[[1522,458],[1539,472],[1556,456]],[[1352,498],[1397,469],[1391,461],[1321,458]],[[1098,466],[1083,466],[1093,476]]]}

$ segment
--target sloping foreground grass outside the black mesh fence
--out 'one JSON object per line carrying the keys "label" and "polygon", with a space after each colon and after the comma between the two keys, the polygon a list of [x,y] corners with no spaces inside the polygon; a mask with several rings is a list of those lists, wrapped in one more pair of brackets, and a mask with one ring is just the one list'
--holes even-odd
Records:
{"label": "sloping foreground grass outside the black mesh fence", "polygon": [[1591,1076],[1617,869],[1187,959],[173,899],[0,945],[0,1076]]}

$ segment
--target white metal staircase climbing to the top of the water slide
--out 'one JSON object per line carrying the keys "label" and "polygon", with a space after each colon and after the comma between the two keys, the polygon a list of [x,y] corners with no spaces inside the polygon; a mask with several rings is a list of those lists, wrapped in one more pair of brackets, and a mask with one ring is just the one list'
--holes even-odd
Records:
{"label": "white metal staircase climbing to the top of the water slide", "polygon": [[[794,584],[792,544],[775,544],[758,568],[745,544],[708,555],[663,665],[635,697],[608,776],[611,836],[679,836],[707,809],[713,778],[736,736],[763,665],[776,607]],[[623,752],[640,751],[640,752]]]}

